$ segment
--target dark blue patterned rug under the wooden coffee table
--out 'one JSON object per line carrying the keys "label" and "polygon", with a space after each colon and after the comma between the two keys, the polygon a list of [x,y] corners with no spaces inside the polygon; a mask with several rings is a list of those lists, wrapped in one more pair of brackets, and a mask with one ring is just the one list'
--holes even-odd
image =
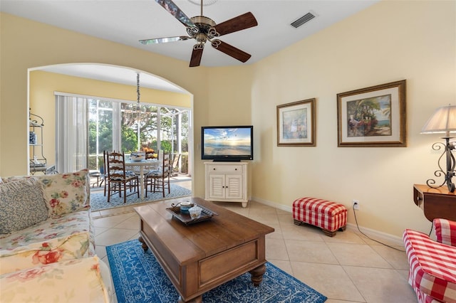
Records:
{"label": "dark blue patterned rug under the wooden coffee table", "polygon": [[[138,240],[108,246],[106,251],[119,303],[177,302],[175,287],[152,252],[144,252]],[[259,287],[253,286],[247,272],[202,296],[204,303],[323,303],[326,299],[269,262]]]}

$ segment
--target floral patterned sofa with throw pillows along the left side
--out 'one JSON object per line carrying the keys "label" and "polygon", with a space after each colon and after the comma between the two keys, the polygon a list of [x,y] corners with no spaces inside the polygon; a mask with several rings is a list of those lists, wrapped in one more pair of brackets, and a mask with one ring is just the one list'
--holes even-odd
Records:
{"label": "floral patterned sofa with throw pillows along the left side", "polygon": [[89,208],[86,169],[0,179],[1,302],[112,300]]}

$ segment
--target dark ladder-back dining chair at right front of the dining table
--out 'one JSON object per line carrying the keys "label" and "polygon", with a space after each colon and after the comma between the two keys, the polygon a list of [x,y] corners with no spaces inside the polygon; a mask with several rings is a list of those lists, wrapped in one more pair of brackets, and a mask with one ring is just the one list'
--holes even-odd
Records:
{"label": "dark ladder-back dining chair at right front of the dining table", "polygon": [[[150,192],[156,193],[157,189],[163,193],[163,198],[165,198],[165,187],[168,188],[168,193],[171,192],[170,189],[170,154],[160,151],[161,156],[161,165],[158,169],[149,171],[144,176],[145,181],[145,196],[147,197],[147,187],[150,188]],[[160,160],[159,160],[160,161]]]}

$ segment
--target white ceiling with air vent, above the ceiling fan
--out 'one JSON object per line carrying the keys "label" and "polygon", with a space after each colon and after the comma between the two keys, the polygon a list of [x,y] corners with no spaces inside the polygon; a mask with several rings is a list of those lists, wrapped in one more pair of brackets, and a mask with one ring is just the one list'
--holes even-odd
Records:
{"label": "white ceiling with air vent, above the ceiling fan", "polygon": [[[207,44],[201,65],[228,66],[257,62],[378,1],[380,0],[218,0],[214,4],[204,5],[203,15],[216,23],[251,11],[257,18],[258,26],[220,37],[220,40],[250,53],[252,58],[247,63],[241,63]],[[174,2],[188,17],[200,15],[199,5],[188,0]],[[138,43],[140,39],[187,34],[185,26],[154,0],[0,0],[0,11],[187,62],[195,44],[193,39],[147,46]],[[309,11],[316,18],[299,28],[290,25]],[[61,66],[53,68],[53,71],[106,80],[104,70],[103,73],[94,75],[95,71],[90,70],[93,67],[87,65],[76,71]],[[113,75],[113,67],[105,68],[110,68],[110,75]],[[135,83],[135,71],[130,72],[133,73]],[[125,77],[127,76],[131,77],[126,73]],[[122,75],[117,78],[119,79],[113,82],[123,81]],[[144,82],[142,78],[145,78]],[[129,84],[131,82],[129,80]],[[147,86],[147,76],[141,74],[142,84]]]}

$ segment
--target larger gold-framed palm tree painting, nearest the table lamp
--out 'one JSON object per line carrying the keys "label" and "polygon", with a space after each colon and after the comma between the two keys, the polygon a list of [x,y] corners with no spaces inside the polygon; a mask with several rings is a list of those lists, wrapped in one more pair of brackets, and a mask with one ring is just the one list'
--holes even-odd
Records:
{"label": "larger gold-framed palm tree painting, nearest the table lamp", "polygon": [[406,147],[405,80],[337,94],[338,147]]}

